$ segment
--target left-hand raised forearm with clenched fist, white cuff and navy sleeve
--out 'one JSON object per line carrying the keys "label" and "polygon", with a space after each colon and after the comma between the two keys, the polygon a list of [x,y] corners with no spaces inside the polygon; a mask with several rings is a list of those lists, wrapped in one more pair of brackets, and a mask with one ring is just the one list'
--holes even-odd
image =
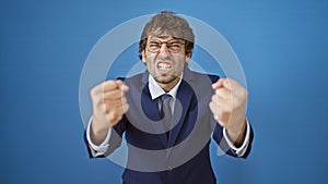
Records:
{"label": "left-hand raised forearm with clenched fist, white cuff and navy sleeve", "polygon": [[124,114],[129,109],[126,91],[128,87],[121,81],[107,81],[91,90],[93,116],[85,132],[91,157],[108,155],[119,146]]}

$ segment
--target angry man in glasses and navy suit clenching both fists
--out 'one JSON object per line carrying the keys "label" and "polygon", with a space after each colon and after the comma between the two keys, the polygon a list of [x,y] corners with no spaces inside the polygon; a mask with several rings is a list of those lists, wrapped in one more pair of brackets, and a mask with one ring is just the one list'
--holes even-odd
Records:
{"label": "angry man in glasses and navy suit clenching both fists", "polygon": [[231,78],[190,71],[194,42],[186,20],[161,12],[145,25],[139,42],[147,71],[91,90],[90,156],[108,156],[125,133],[126,184],[216,183],[211,136],[233,157],[246,158],[250,150],[246,89]]}

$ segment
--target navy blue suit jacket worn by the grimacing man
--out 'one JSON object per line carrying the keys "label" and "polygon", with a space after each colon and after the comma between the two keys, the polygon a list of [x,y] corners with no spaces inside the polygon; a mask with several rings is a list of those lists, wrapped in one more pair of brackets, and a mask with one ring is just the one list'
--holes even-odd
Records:
{"label": "navy blue suit jacket worn by the grimacing man", "polygon": [[[209,145],[211,135],[226,154],[236,157],[223,137],[223,128],[209,109],[212,83],[219,79],[184,70],[176,95],[174,125],[169,136],[163,131],[159,100],[152,100],[148,87],[149,73],[125,78],[130,90],[126,94],[129,111],[114,127],[109,140],[113,152],[125,133],[128,163],[122,174],[125,184],[214,184]],[[250,142],[253,139],[253,131]],[[247,157],[250,150],[243,156]],[[105,156],[106,156],[105,155]]]}

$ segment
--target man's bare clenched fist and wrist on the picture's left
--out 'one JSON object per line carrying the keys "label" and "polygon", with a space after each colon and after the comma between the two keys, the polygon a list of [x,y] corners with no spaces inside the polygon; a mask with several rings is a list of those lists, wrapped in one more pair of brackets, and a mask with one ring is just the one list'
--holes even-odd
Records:
{"label": "man's bare clenched fist and wrist on the picture's left", "polygon": [[93,106],[92,132],[94,135],[107,133],[128,111],[125,93],[129,87],[122,81],[106,81],[91,90]]}

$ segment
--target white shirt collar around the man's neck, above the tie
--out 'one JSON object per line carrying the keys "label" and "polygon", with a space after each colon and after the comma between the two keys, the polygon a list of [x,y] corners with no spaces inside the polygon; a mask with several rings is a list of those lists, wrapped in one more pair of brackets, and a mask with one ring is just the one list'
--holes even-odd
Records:
{"label": "white shirt collar around the man's neck, above the tie", "polygon": [[[178,89],[178,87],[181,83],[183,76],[184,76],[184,74],[181,74],[179,82],[167,93],[174,99],[176,98],[176,93],[177,93],[177,89]],[[149,86],[149,90],[150,90],[152,100],[154,100],[154,99],[159,98],[160,96],[166,94],[151,74],[149,74],[148,82],[149,82],[148,86]]]}

